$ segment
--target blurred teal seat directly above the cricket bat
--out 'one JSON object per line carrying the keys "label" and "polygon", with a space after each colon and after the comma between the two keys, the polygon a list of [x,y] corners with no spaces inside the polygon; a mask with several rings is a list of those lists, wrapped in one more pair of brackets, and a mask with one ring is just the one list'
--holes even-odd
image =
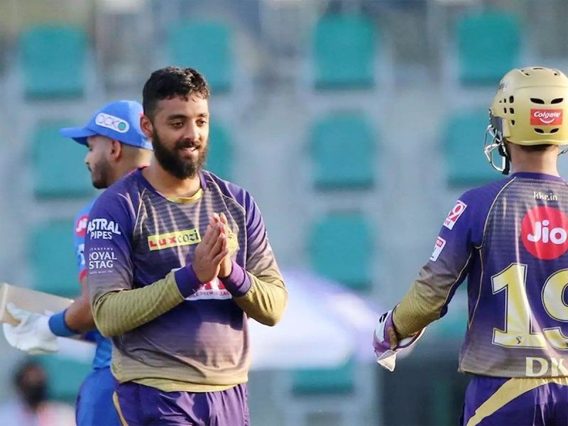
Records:
{"label": "blurred teal seat directly above the cricket bat", "polygon": [[32,288],[62,297],[77,297],[80,285],[72,221],[37,224],[28,236]]}

